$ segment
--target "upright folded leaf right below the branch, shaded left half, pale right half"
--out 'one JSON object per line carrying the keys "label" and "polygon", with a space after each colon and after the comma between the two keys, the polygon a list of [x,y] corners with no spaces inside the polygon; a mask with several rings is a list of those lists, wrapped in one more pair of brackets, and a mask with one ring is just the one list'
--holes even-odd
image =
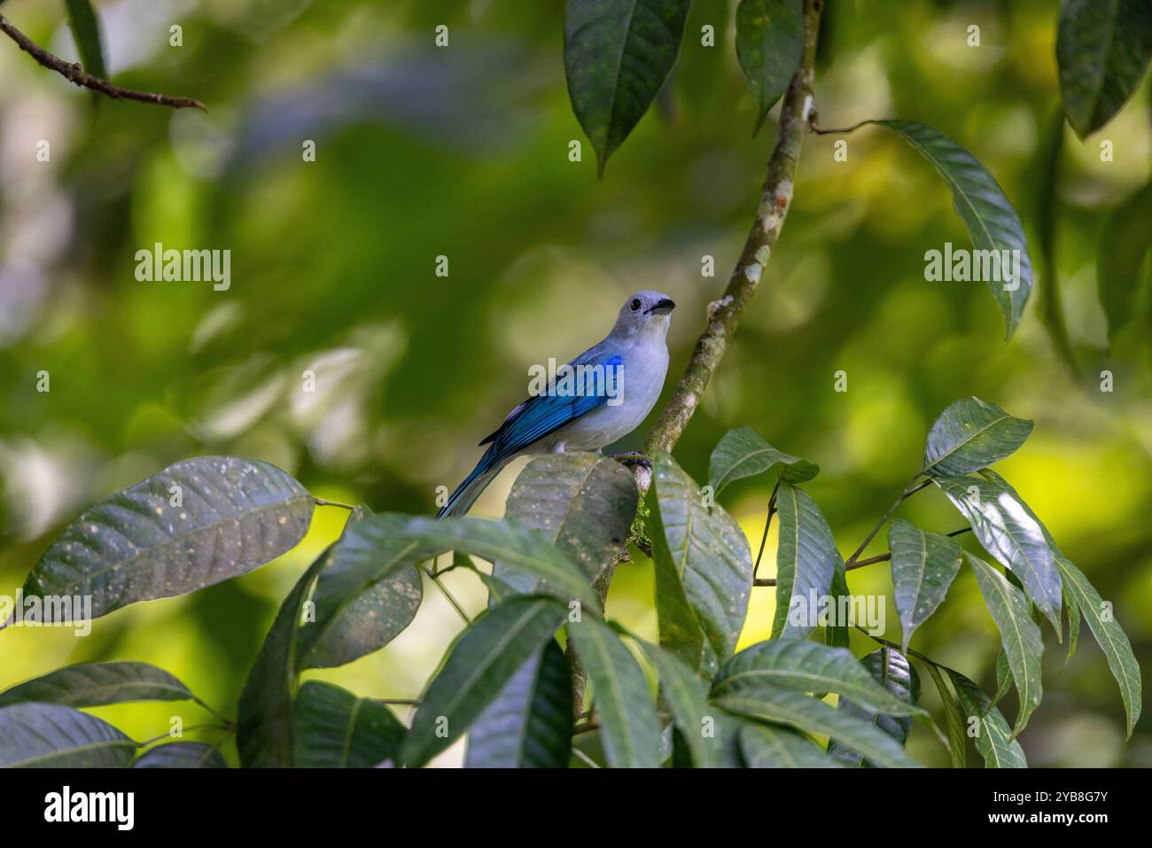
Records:
{"label": "upright folded leaf right below the branch, shaded left half, pale right half", "polygon": [[682,599],[723,661],[736,650],[748,615],[752,554],[740,524],[719,505],[704,506],[699,486],[669,454],[652,457],[652,474],[660,643],[695,671],[700,661],[692,656],[697,649]]}

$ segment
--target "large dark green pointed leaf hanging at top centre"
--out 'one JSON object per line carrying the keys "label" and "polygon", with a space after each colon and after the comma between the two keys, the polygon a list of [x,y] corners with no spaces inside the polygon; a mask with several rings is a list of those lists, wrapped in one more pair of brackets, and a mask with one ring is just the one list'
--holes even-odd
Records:
{"label": "large dark green pointed leaf hanging at top centre", "polygon": [[564,74],[599,173],[676,62],[689,0],[568,0]]}

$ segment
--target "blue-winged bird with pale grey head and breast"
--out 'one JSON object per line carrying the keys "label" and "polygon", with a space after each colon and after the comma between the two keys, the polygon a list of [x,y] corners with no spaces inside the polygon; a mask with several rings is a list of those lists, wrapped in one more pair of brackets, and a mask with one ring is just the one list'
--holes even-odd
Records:
{"label": "blue-winged bird with pale grey head and breast", "polygon": [[[624,301],[601,342],[555,369],[480,441],[480,461],[437,513],[463,515],[505,465],[524,454],[600,450],[638,427],[652,411],[668,373],[668,325],[676,308],[662,292]],[[543,368],[536,366],[537,373]],[[529,370],[532,372],[532,369]],[[577,377],[568,379],[569,376]],[[584,374],[584,378],[579,378]]]}

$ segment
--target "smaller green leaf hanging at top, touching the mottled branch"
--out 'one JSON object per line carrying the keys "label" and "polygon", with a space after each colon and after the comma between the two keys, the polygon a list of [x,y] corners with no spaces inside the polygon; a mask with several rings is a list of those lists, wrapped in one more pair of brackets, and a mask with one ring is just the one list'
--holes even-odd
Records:
{"label": "smaller green leaf hanging at top, touching the mottled branch", "polygon": [[804,52],[804,0],[741,0],[736,56],[756,96],[756,129],[791,82]]}

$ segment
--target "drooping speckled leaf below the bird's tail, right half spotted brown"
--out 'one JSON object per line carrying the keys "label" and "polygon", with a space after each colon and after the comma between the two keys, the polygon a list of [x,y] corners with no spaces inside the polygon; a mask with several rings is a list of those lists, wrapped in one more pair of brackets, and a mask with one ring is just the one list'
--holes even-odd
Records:
{"label": "drooping speckled leaf below the bird's tail, right half spotted brown", "polygon": [[297,671],[351,662],[392,642],[423,599],[416,563],[438,548],[393,533],[409,516],[356,507],[325,554],[312,593],[314,615],[301,626]]}

